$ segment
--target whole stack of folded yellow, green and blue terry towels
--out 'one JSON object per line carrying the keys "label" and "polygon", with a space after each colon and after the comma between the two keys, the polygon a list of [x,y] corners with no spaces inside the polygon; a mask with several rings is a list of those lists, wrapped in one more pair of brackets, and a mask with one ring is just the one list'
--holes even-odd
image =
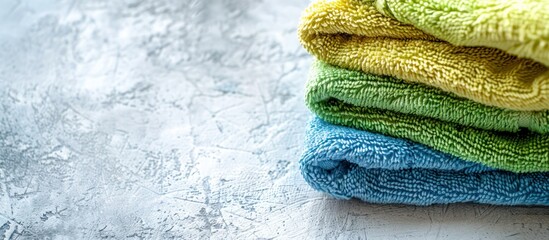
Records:
{"label": "whole stack of folded yellow, green and blue terry towels", "polygon": [[549,3],[318,0],[300,166],[373,203],[549,205]]}

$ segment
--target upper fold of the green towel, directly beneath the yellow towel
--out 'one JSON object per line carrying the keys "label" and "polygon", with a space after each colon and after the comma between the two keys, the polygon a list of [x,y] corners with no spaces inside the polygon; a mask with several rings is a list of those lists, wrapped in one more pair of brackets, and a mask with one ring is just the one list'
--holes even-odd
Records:
{"label": "upper fold of the green towel, directly beneath the yellow towel", "polygon": [[549,111],[490,107],[423,84],[351,71],[321,61],[313,63],[309,77],[307,101],[311,108],[341,101],[486,130],[518,132],[527,128],[538,133],[549,132]]}

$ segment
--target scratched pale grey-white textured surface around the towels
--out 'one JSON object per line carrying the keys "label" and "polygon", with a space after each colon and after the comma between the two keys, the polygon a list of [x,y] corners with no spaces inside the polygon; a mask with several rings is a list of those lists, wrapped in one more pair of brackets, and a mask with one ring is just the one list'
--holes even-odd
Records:
{"label": "scratched pale grey-white textured surface around the towels", "polygon": [[311,190],[306,5],[1,0],[0,236],[549,238],[547,208]]}

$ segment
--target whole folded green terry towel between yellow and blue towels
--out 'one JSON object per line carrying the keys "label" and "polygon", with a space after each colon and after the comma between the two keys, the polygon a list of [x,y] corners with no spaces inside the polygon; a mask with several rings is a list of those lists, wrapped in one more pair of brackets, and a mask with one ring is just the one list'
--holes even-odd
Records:
{"label": "whole folded green terry towel between yellow and blue towels", "polygon": [[547,112],[487,107],[421,84],[321,62],[312,67],[306,100],[333,124],[409,139],[493,168],[549,171],[549,134],[533,132],[548,132]]}

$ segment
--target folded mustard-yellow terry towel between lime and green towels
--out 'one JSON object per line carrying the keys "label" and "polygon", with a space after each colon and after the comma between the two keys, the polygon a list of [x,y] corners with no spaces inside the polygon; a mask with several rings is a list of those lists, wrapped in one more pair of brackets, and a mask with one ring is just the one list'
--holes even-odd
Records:
{"label": "folded mustard-yellow terry towel between lime and green towels", "polygon": [[495,48],[454,46],[383,16],[372,1],[313,2],[299,37],[311,54],[339,67],[427,84],[490,106],[549,109],[543,64]]}

